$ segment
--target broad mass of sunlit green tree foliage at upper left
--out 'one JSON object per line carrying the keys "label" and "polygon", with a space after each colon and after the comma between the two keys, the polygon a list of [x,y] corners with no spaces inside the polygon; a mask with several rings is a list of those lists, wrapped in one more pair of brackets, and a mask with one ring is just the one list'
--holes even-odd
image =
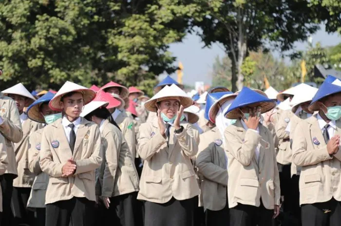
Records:
{"label": "broad mass of sunlit green tree foliage at upper left", "polygon": [[156,75],[176,70],[168,45],[197,11],[186,0],[2,0],[0,88],[114,80],[150,94]]}

